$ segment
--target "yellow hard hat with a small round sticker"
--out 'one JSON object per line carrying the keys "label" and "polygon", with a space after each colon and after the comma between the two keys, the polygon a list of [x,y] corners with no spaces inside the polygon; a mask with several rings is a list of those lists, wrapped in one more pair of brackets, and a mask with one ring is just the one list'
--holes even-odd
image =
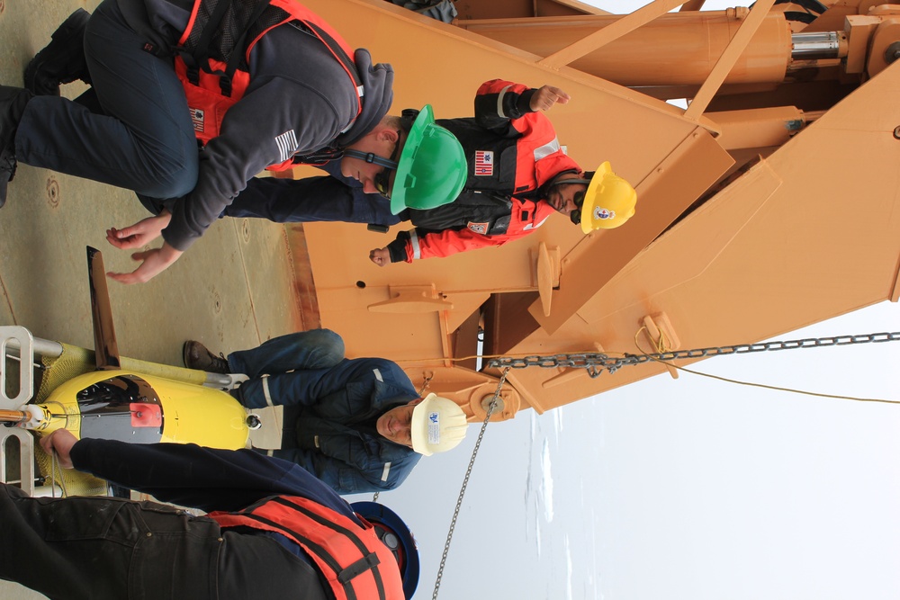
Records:
{"label": "yellow hard hat with a small round sticker", "polygon": [[637,193],[625,179],[613,173],[609,161],[597,167],[590,178],[581,205],[581,231],[613,229],[635,214]]}

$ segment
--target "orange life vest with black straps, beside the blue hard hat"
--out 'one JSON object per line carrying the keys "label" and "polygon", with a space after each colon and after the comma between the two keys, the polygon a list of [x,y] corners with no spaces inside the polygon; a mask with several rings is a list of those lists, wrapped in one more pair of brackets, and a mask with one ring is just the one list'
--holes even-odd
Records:
{"label": "orange life vest with black straps, beside the blue hard hat", "polygon": [[400,567],[372,524],[304,497],[275,496],[238,513],[214,512],[222,527],[238,525],[281,533],[319,567],[338,600],[403,600]]}

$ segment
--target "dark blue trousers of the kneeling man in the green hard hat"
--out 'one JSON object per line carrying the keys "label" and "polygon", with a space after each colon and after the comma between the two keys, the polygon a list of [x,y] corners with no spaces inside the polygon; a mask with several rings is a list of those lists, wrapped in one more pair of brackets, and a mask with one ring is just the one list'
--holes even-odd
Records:
{"label": "dark blue trousers of the kneeling man in the green hard hat", "polygon": [[197,183],[199,156],[184,88],[171,58],[143,49],[116,0],[87,23],[85,58],[103,113],[58,96],[27,104],[16,158],[31,166],[177,198]]}

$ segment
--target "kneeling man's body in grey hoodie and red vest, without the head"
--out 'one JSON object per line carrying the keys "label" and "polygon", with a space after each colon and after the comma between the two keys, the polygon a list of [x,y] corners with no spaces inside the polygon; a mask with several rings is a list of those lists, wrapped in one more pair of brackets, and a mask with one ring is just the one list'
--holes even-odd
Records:
{"label": "kneeling man's body in grey hoodie and red vest, without the head", "polygon": [[[175,263],[263,169],[340,156],[393,98],[392,68],[296,0],[103,0],[24,79],[0,85],[0,206],[17,163],[133,190],[163,218],[107,230],[137,250],[122,283]],[[76,79],[92,87],[61,97]]]}

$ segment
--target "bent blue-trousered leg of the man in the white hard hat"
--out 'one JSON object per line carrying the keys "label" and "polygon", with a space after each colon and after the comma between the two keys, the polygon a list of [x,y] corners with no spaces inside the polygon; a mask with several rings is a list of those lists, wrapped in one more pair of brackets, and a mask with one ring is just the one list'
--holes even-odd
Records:
{"label": "bent blue-trousered leg of the man in the white hard hat", "polygon": [[344,359],[344,340],[330,329],[311,329],[273,337],[250,350],[228,355],[231,372],[250,379],[295,369],[329,369]]}

